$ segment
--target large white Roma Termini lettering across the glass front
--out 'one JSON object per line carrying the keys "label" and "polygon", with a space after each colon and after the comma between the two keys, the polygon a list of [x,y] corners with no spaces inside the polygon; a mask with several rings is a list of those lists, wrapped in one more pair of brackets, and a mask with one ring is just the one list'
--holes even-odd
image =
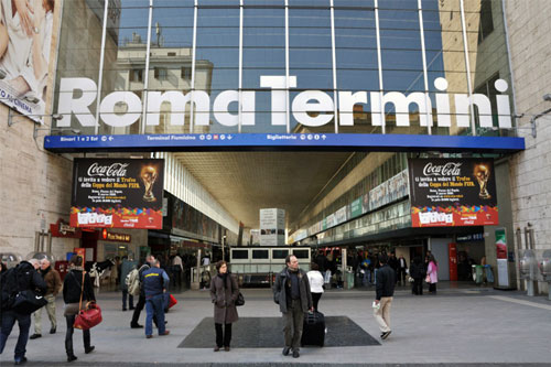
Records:
{"label": "large white Roma Termini lettering across the glass front", "polygon": [[[296,88],[296,76],[260,76],[260,88],[271,90],[271,125],[287,126],[287,88]],[[436,111],[437,127],[452,127],[452,116],[458,128],[471,127],[471,110],[476,106],[480,128],[493,128],[493,114],[490,99],[482,94],[447,94],[447,82],[440,77],[434,80],[437,93],[431,98],[429,93],[400,91],[346,91],[339,90],[334,97],[323,90],[304,90],[299,93],[290,101],[290,111],[294,119],[306,127],[321,127],[329,123],[337,112],[339,126],[354,125],[354,106],[368,104],[371,112],[371,123],[382,126],[385,120],[385,108],[393,105],[396,111],[396,125],[398,127],[410,126],[410,106],[415,105],[420,112],[420,125],[426,127],[432,125],[432,111]],[[506,93],[508,85],[506,80],[498,79],[495,83],[496,90]],[[241,98],[239,98],[241,95]],[[369,101],[368,101],[369,96]],[[97,85],[89,78],[62,78],[60,82],[60,102],[57,112],[63,119],[57,121],[57,127],[71,127],[72,116],[83,127],[95,127],[106,123],[111,127],[128,127],[136,123],[143,114],[143,101],[132,91],[114,91],[105,96],[99,102],[100,121],[90,111],[96,106]],[[500,129],[511,128],[511,111],[508,95],[496,97],[498,127]],[[451,100],[453,99],[452,110]],[[239,116],[230,112],[229,106],[240,100],[241,126],[255,126],[256,123],[256,91],[255,90],[224,90],[212,101],[205,90],[194,90],[184,94],[179,90],[147,91],[145,125],[159,126],[161,106],[165,102],[171,106],[169,123],[171,126],[184,126],[186,106],[193,102],[194,126],[209,126],[210,112],[215,121],[224,127],[235,127],[239,123]],[[433,100],[434,105],[433,106]],[[117,106],[126,105],[123,114]],[[119,108],[120,109],[120,108]]]}

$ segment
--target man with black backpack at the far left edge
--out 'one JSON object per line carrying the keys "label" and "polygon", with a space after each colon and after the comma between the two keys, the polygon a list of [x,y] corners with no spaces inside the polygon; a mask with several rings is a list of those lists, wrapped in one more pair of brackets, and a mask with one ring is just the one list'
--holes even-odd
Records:
{"label": "man with black backpack at the far left edge", "polygon": [[[19,291],[36,290],[41,294],[46,292],[46,283],[36,271],[40,262],[36,259],[21,261],[17,268],[2,274],[2,288],[10,289],[10,293],[17,294]],[[0,333],[0,354],[6,347],[8,336],[15,324],[19,324],[19,338],[15,344],[15,365],[22,365],[26,361],[26,342],[29,341],[29,328],[31,327],[31,314],[22,314],[11,307],[2,310],[2,331]]]}

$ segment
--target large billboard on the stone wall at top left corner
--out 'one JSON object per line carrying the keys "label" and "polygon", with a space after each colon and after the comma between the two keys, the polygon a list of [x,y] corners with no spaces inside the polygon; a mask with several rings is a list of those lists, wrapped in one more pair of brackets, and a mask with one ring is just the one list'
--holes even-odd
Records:
{"label": "large billboard on the stone wall at top left corner", "polygon": [[[19,7],[18,4],[22,6]],[[2,1],[0,39],[0,100],[42,122],[52,44],[54,1]],[[31,21],[23,22],[22,19]]]}

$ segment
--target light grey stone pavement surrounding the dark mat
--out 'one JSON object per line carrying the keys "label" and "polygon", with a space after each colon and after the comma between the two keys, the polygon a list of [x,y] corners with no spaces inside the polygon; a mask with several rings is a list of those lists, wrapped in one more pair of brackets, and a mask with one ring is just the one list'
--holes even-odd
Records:
{"label": "light grey stone pavement surrounding the dark mat", "polygon": [[[304,347],[301,357],[281,355],[278,348],[233,348],[214,353],[212,348],[177,346],[204,317],[212,317],[208,291],[175,293],[176,304],[166,315],[169,336],[145,339],[143,330],[130,328],[131,312],[121,311],[120,293],[101,291],[97,295],[104,322],[91,330],[96,350],[84,354],[82,332],[75,331],[75,354],[72,366],[145,366],[182,364],[196,366],[465,366],[510,365],[551,366],[551,302],[543,296],[528,298],[522,292],[503,292],[472,284],[440,283],[437,295],[414,296],[401,288],[392,302],[392,334],[380,341],[372,317],[371,289],[329,290],[320,301],[320,311],[329,316],[346,315],[381,345]],[[269,289],[245,289],[246,304],[239,307],[244,317],[277,317],[279,307]],[[43,311],[45,312],[45,311]],[[43,315],[46,334],[29,341],[29,365],[65,365],[65,321],[63,303],[57,300],[57,334],[50,335],[50,322]],[[140,316],[143,324],[145,313]],[[214,330],[214,326],[213,326]],[[33,333],[31,326],[31,334]],[[262,333],[251,330],[250,333]],[[331,333],[331,330],[328,331]],[[15,326],[0,355],[0,366],[12,365],[18,336]],[[214,346],[214,331],[213,331]]]}

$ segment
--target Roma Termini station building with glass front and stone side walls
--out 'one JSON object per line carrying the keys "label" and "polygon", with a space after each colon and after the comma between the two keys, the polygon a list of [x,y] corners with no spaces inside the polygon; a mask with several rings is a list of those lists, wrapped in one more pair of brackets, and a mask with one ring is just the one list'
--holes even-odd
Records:
{"label": "Roma Termini station building with glass front and stone side walls", "polygon": [[[11,7],[2,253],[252,245],[266,207],[289,245],[431,250],[443,280],[450,244],[497,269],[496,229],[508,287],[527,242],[551,250],[545,0],[64,0],[30,28]],[[71,226],[75,158],[163,159],[162,228]],[[498,223],[414,226],[412,159],[491,160]]]}

